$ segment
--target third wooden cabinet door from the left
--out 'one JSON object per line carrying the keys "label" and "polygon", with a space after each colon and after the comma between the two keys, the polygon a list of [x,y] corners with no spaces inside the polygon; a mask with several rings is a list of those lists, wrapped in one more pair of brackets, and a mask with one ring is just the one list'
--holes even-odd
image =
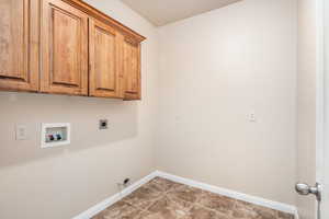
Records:
{"label": "third wooden cabinet door from the left", "polygon": [[123,97],[118,76],[118,35],[111,26],[89,20],[89,95]]}

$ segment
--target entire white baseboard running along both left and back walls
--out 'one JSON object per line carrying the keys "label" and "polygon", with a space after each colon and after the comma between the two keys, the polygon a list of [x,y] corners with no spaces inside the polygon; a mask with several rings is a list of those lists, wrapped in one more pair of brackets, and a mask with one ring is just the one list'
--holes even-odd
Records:
{"label": "entire white baseboard running along both left and back walls", "polygon": [[123,197],[129,195],[135,189],[137,189],[138,187],[140,187],[141,185],[146,184],[147,182],[149,182],[150,180],[152,180],[157,176],[168,178],[168,180],[173,181],[173,182],[182,183],[182,184],[185,184],[185,185],[189,185],[189,186],[192,186],[192,187],[197,187],[197,188],[201,188],[201,189],[204,189],[204,191],[208,191],[208,192],[212,192],[212,193],[215,193],[215,194],[218,194],[218,195],[224,195],[224,196],[236,198],[236,199],[239,199],[239,200],[245,200],[247,203],[251,203],[251,204],[254,204],[254,205],[268,207],[268,208],[271,208],[271,209],[274,209],[274,210],[288,212],[288,214],[294,215],[295,219],[298,219],[297,208],[295,206],[279,203],[279,201],[274,201],[274,200],[264,199],[264,198],[257,197],[257,196],[251,196],[251,195],[238,193],[238,192],[226,189],[226,188],[220,188],[220,187],[217,187],[217,186],[208,185],[206,183],[201,183],[201,182],[197,182],[197,181],[184,178],[184,177],[172,175],[172,174],[164,173],[164,172],[161,172],[161,171],[152,172],[151,174],[149,174],[149,175],[145,176],[144,178],[139,180],[138,182],[132,184],[131,186],[128,186],[127,188],[122,191],[121,193],[117,193],[117,194],[106,198],[102,203],[91,207],[87,211],[76,216],[72,219],[90,219],[90,218],[92,218],[93,216],[98,215],[102,210],[106,209],[107,207],[110,207],[114,203],[118,201]]}

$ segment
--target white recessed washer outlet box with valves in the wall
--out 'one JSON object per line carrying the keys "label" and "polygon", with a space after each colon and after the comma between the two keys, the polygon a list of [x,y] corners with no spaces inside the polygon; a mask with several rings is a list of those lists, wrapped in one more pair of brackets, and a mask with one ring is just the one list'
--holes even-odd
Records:
{"label": "white recessed washer outlet box with valves in the wall", "polygon": [[42,124],[42,148],[69,145],[70,131],[68,123]]}

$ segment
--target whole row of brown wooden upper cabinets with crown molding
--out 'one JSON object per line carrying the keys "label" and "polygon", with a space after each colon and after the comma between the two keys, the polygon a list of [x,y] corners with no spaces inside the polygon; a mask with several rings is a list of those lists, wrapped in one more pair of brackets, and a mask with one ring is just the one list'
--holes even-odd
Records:
{"label": "whole row of brown wooden upper cabinets with crown molding", "polygon": [[0,90],[140,100],[144,39],[81,0],[0,0]]}

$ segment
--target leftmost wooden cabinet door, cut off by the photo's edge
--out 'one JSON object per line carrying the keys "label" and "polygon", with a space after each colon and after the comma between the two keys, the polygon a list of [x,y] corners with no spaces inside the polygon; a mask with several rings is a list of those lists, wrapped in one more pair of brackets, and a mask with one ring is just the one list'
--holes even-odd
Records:
{"label": "leftmost wooden cabinet door, cut off by the photo's edge", "polygon": [[0,0],[0,90],[38,90],[38,1]]}

